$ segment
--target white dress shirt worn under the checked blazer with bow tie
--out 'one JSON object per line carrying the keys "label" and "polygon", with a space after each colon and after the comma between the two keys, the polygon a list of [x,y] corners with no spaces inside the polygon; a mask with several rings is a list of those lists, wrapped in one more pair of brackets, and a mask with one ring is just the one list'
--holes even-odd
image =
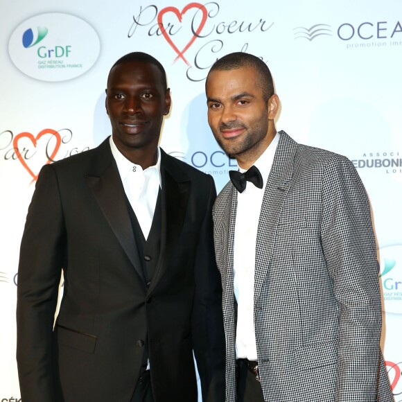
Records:
{"label": "white dress shirt worn under the checked blazer with bow tie", "polygon": [[[247,182],[243,193],[237,195],[236,224],[234,229],[234,295],[238,304],[236,328],[236,358],[257,360],[254,328],[254,271],[256,236],[265,184],[270,174],[279,141],[276,134],[268,148],[256,160],[263,177],[263,188]],[[242,173],[245,169],[240,169]]]}

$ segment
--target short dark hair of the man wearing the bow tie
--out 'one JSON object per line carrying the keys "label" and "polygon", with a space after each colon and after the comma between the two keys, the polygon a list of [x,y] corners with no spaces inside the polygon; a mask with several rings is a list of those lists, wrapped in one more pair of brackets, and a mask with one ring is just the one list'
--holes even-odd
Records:
{"label": "short dark hair of the man wearing the bow tie", "polygon": [[268,99],[274,94],[274,82],[270,69],[268,69],[267,64],[263,60],[250,55],[250,53],[235,52],[223,56],[213,63],[208,76],[212,71],[234,70],[242,67],[250,67],[256,71],[259,85],[261,85],[261,89],[263,90],[264,100],[268,102]]}

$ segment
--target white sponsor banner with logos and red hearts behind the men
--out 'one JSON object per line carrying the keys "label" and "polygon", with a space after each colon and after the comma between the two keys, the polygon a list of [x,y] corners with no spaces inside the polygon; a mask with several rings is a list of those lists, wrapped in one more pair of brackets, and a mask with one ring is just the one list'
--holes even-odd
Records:
{"label": "white sponsor banner with logos and red hearts behind the men", "polygon": [[[21,401],[15,362],[19,243],[40,167],[110,135],[107,73],[144,51],[166,68],[166,152],[209,173],[236,168],[213,139],[204,83],[234,51],[268,64],[277,129],[346,155],[364,182],[381,262],[382,346],[402,401],[402,2],[114,0],[0,2],[0,401]],[[25,401],[28,402],[28,401]]]}

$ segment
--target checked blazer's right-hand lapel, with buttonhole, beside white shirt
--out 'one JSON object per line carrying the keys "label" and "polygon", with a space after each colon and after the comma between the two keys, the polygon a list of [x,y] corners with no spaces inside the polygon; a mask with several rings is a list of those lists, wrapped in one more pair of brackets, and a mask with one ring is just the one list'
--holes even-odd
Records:
{"label": "checked blazer's right-hand lapel, with buttonhole, beside white shirt", "polygon": [[270,175],[268,176],[256,238],[256,265],[254,277],[254,301],[259,299],[267,276],[277,234],[277,226],[283,201],[290,188],[297,143],[286,132],[281,135]]}

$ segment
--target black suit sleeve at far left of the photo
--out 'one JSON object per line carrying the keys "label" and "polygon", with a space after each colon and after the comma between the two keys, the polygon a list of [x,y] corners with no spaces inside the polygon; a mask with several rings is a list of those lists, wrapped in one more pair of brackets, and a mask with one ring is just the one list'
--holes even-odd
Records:
{"label": "black suit sleeve at far left of the photo", "polygon": [[38,177],[21,241],[17,286],[17,365],[21,398],[54,402],[52,333],[66,234],[53,166]]}

